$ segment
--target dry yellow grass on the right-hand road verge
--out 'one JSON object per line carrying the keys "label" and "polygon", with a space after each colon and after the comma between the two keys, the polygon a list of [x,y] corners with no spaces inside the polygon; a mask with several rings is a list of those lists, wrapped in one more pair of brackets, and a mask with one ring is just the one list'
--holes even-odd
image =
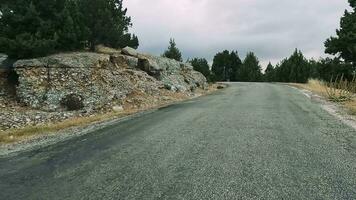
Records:
{"label": "dry yellow grass on the right-hand road verge", "polygon": [[[290,85],[338,102],[349,111],[349,114],[356,115],[356,98],[353,97],[355,94],[347,92],[345,89],[331,88],[328,83],[314,79],[309,80],[307,84],[291,83]],[[345,94],[347,94],[347,97],[345,97]]]}

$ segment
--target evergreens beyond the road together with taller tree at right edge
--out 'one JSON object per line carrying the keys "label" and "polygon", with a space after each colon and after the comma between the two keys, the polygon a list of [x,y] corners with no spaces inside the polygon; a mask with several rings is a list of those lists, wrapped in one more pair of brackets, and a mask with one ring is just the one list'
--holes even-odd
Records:
{"label": "evergreens beyond the road together with taller tree at right edge", "polygon": [[220,52],[214,57],[211,70],[204,58],[189,61],[210,81],[306,83],[310,78],[330,81],[343,76],[348,80],[353,79],[356,72],[356,0],[349,0],[349,3],[352,11],[345,11],[336,37],[330,37],[325,42],[325,52],[334,55],[334,58],[307,60],[296,49],[276,66],[268,64],[264,74],[258,58],[252,52],[243,61],[236,51]]}

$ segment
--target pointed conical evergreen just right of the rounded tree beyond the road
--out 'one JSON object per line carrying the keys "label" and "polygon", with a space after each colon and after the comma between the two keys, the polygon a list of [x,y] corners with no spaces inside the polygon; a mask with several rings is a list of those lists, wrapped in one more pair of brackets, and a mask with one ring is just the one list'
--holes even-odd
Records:
{"label": "pointed conical evergreen just right of the rounded tree beyond the road", "polygon": [[261,66],[253,52],[249,52],[238,73],[239,81],[258,82],[262,81]]}

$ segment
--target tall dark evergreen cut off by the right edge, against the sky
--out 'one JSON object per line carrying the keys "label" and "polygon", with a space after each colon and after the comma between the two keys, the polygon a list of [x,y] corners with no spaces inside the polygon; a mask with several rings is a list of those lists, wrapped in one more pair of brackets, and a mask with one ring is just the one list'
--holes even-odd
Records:
{"label": "tall dark evergreen cut off by the right edge, against the sky", "polygon": [[346,62],[356,62],[356,1],[349,0],[353,11],[345,11],[341,18],[340,29],[336,31],[336,37],[330,37],[325,42],[326,53],[339,54]]}

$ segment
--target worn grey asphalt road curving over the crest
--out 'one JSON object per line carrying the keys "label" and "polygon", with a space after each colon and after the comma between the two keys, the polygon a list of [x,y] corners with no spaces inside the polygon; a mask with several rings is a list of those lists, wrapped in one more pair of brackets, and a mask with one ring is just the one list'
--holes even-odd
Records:
{"label": "worn grey asphalt road curving over the crest", "polygon": [[0,199],[356,199],[355,136],[296,89],[235,83],[0,159]]}

